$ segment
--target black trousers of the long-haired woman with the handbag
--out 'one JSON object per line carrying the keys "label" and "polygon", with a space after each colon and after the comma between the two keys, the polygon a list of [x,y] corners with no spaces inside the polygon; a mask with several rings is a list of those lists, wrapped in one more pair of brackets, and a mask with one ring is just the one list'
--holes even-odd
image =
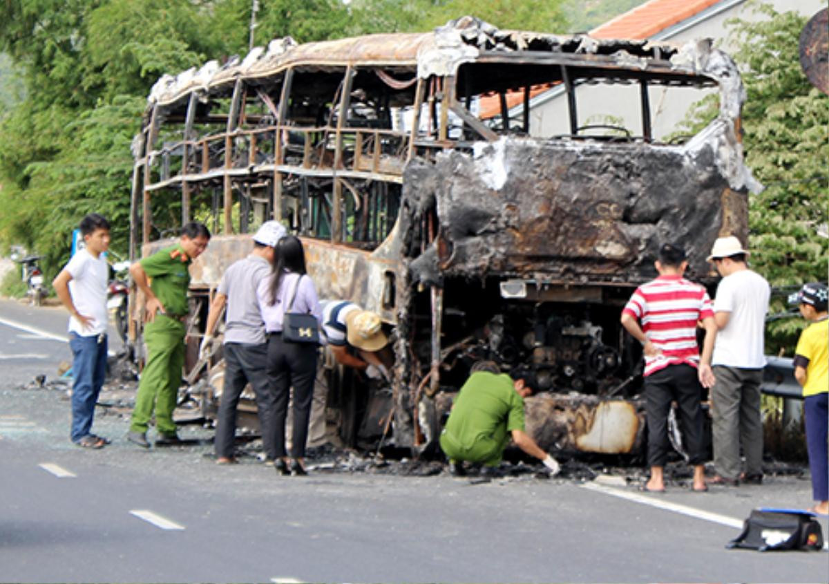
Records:
{"label": "black trousers of the long-haired woman with the handbag", "polygon": [[317,374],[318,345],[312,343],[285,343],[282,335],[268,338],[268,377],[276,393],[276,455],[285,455],[285,417],[288,416],[288,398],[293,386],[293,435],[291,456],[302,458],[308,441],[308,420],[311,416],[313,382]]}

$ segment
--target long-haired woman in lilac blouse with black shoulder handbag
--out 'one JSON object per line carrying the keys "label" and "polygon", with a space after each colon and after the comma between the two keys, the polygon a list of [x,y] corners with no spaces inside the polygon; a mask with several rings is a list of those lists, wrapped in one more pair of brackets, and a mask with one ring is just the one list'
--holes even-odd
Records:
{"label": "long-haired woman in lilac blouse with black shoulder handbag", "polygon": [[[295,236],[283,237],[274,253],[274,270],[258,290],[268,333],[268,376],[276,393],[274,431],[276,471],[302,476],[313,383],[317,372],[319,322],[317,290],[305,273],[305,252]],[[285,417],[293,387],[291,460],[285,452]]]}

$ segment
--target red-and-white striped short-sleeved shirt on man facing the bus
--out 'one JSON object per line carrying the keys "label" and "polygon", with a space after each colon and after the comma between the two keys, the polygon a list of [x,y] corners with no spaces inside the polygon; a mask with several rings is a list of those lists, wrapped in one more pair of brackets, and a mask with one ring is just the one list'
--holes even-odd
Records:
{"label": "red-and-white striped short-sleeved shirt on man facing the bus", "polygon": [[622,312],[638,319],[647,339],[662,351],[645,357],[646,377],[668,365],[699,364],[696,324],[714,317],[711,299],[701,285],[679,275],[659,276],[639,286]]}

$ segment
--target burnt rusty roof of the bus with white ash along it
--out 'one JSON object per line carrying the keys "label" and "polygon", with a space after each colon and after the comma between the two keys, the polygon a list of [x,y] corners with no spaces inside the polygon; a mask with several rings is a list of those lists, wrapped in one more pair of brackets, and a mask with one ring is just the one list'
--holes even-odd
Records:
{"label": "burnt rusty roof of the bus with white ash along it", "polygon": [[460,63],[487,52],[503,55],[527,50],[581,56],[627,69],[633,65],[645,70],[658,61],[659,66],[667,67],[666,72],[678,74],[696,73],[700,63],[697,59],[669,65],[668,60],[679,53],[679,47],[669,43],[502,31],[477,18],[461,17],[434,32],[386,33],[303,45],[297,45],[290,37],[274,39],[268,46],[257,46],[246,56],[235,56],[224,65],[210,61],[199,69],[162,75],[153,85],[148,104],[171,105],[190,92],[204,93],[221,87],[229,93],[236,79],[273,77],[290,67],[416,66],[418,76],[425,79],[430,75],[453,75]]}

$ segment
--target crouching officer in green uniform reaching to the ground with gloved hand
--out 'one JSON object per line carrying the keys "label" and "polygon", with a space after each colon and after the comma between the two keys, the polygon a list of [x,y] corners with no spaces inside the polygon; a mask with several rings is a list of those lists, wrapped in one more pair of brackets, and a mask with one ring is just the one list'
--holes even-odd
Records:
{"label": "crouching officer in green uniform reaching to the ground with gloved hand", "polygon": [[482,476],[492,475],[512,438],[521,450],[541,460],[551,474],[557,474],[558,462],[524,431],[524,398],[533,392],[533,373],[519,368],[507,375],[492,372],[497,371],[494,367],[490,371],[484,368],[490,367],[479,371],[473,368],[440,435],[449,472],[462,476],[461,463],[467,460],[483,465]]}

